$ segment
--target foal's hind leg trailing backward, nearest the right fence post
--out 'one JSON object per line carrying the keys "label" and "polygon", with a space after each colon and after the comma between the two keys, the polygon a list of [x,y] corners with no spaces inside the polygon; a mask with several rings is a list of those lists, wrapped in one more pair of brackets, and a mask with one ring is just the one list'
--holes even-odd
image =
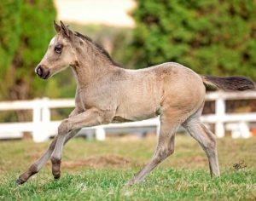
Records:
{"label": "foal's hind leg trailing backward, nearest the right fence post", "polygon": [[211,175],[218,176],[218,153],[215,135],[201,123],[199,119],[200,115],[201,112],[198,112],[190,117],[183,123],[183,127],[188,130],[189,134],[199,142],[203,150],[207,153]]}

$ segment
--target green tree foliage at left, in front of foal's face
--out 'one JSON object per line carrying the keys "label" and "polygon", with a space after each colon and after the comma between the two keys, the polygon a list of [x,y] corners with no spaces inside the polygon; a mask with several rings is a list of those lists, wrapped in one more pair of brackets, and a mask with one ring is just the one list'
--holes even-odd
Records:
{"label": "green tree foliage at left, in front of foal's face", "polygon": [[0,98],[15,100],[44,95],[47,85],[56,85],[55,81],[44,83],[35,76],[34,68],[55,34],[53,1],[8,0],[1,1],[0,8],[0,26],[4,27],[0,32]]}

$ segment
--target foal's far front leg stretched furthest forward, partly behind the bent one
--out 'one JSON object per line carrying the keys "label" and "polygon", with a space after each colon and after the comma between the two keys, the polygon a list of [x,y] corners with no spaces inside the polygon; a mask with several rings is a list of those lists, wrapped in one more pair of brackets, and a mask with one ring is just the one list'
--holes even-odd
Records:
{"label": "foal's far front leg stretched furthest forward, partly behind the bent one", "polygon": [[[68,136],[67,139],[65,141],[65,143],[67,143],[67,141],[69,141],[74,135],[76,135],[79,132],[79,129],[77,130],[73,130],[73,132],[71,132]],[[36,173],[38,173],[38,171],[40,169],[42,169],[44,167],[44,164],[46,164],[46,162],[49,160],[52,152],[55,149],[55,143],[57,141],[57,137],[55,136],[55,139],[50,143],[49,149],[44,152],[44,154],[42,155],[41,158],[39,158],[34,164],[32,164],[29,169],[26,170],[25,173],[23,173],[22,175],[19,176],[19,178],[17,179],[17,183],[18,184],[23,184],[25,183],[32,175],[35,175]]]}

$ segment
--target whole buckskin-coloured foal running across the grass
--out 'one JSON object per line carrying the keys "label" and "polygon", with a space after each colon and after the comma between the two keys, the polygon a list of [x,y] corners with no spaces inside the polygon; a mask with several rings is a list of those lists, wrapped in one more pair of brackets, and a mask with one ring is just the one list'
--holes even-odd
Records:
{"label": "whole buckskin-coloured foal running across the grass", "polygon": [[200,121],[206,87],[255,89],[247,78],[201,76],[189,68],[169,62],[142,70],[120,68],[96,43],[61,22],[56,35],[35,69],[47,79],[70,66],[77,80],[75,109],[61,122],[49,149],[20,175],[22,184],[38,173],[50,158],[55,179],[61,176],[61,152],[67,141],[83,127],[122,123],[160,115],[158,145],[150,162],[129,181],[135,184],[174,151],[177,128],[183,125],[207,153],[212,176],[219,175],[215,135]]}

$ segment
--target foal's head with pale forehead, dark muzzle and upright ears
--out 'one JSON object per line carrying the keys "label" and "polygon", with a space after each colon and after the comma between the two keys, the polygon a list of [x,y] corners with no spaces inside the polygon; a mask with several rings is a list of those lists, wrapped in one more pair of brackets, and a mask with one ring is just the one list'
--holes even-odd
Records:
{"label": "foal's head with pale forehead, dark muzzle and upright ears", "polygon": [[72,66],[76,60],[74,33],[62,22],[61,26],[54,22],[54,26],[56,35],[49,42],[44,58],[35,69],[38,76],[43,79]]}

